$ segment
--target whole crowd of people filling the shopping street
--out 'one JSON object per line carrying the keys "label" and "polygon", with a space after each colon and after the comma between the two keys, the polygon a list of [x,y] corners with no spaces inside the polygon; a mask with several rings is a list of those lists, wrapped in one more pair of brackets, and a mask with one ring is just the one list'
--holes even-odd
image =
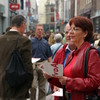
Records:
{"label": "whole crowd of people filling the shopping street", "polygon": [[[63,97],[54,100],[90,100],[100,86],[100,35],[93,34],[93,24],[84,16],[72,18],[64,33],[44,33],[43,25],[37,24],[34,31],[27,31],[22,15],[12,18],[11,26],[0,36],[0,100],[45,100],[45,84],[48,81],[53,92],[63,89]],[[21,35],[17,49],[28,70],[28,80],[20,87],[11,88],[6,79],[6,65]],[[84,60],[89,51],[87,75],[84,77]],[[34,64],[31,58],[40,58]],[[44,61],[63,65],[63,76],[52,77],[39,65]],[[48,65],[47,65],[48,66]],[[92,99],[91,99],[92,100]],[[99,100],[99,99],[95,99]]]}

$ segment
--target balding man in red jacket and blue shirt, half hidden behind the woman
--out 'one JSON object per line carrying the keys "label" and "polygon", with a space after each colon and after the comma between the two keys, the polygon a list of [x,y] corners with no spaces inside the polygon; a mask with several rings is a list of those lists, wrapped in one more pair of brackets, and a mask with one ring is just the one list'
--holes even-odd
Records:
{"label": "balding man in red jacket and blue shirt, half hidden behind the woman", "polygon": [[[65,26],[65,38],[66,38],[67,42],[60,50],[57,51],[57,53],[55,54],[54,61],[53,61],[53,63],[63,64],[63,67],[65,67],[65,63],[67,61],[68,54],[71,51],[75,50],[75,48],[76,48],[74,43],[70,41],[69,31],[70,31],[70,25],[68,23]],[[51,85],[51,88],[53,89],[53,92],[59,91],[59,87],[57,87],[57,86]],[[68,97],[70,98],[70,94],[67,96],[67,98]],[[54,100],[63,100],[63,98],[55,96]]]}

